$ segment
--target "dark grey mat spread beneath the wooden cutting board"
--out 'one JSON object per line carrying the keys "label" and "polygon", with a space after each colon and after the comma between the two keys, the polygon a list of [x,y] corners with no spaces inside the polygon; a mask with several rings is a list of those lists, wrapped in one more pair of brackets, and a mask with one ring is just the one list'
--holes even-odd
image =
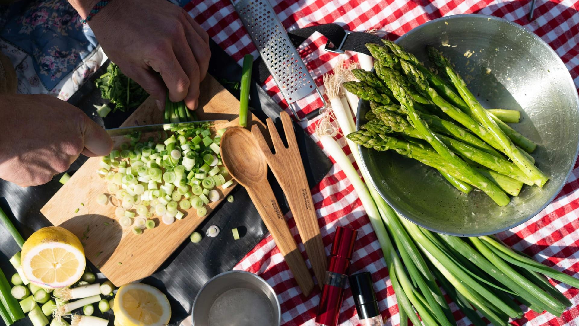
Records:
{"label": "dark grey mat spread beneath the wooden cutting board", "polygon": [[[211,42],[211,50],[210,74],[218,80],[225,78],[229,81],[239,81],[241,67],[213,42]],[[93,78],[69,99],[69,102],[81,108],[89,117],[105,128],[116,128],[129,117],[130,112],[111,113],[104,119],[94,114],[96,109],[93,104],[102,104],[103,101],[93,80],[100,76],[104,70],[103,67],[94,74]],[[225,86],[234,96],[239,97],[239,90],[232,89],[230,85]],[[250,100],[250,106],[254,108],[252,112],[262,120],[267,117],[276,118],[281,108],[263,90],[258,89],[261,87],[256,84],[252,85]],[[295,125],[295,127],[310,187],[313,187],[327,174],[331,162],[299,125]],[[68,173],[74,173],[85,161],[86,158],[79,158],[72,164]],[[51,182],[42,186],[26,189],[0,180],[0,207],[8,213],[25,238],[30,236],[34,230],[50,225],[40,213],[40,209],[60,188],[58,179],[60,176],[56,176]],[[270,180],[280,207],[285,213],[288,211],[288,206],[283,198],[283,193],[273,178]],[[234,197],[234,202],[223,201],[198,229],[204,234],[208,226],[217,225],[221,229],[218,237],[204,237],[198,244],[185,241],[153,276],[143,280],[144,283],[154,285],[167,294],[173,309],[171,325],[177,325],[188,315],[197,291],[206,281],[223,271],[231,270],[267,232],[248,197],[247,191],[238,186],[231,194]],[[233,227],[240,230],[240,240],[233,241],[230,232]],[[8,259],[18,250],[19,248],[12,237],[3,227],[0,227],[0,268],[5,271],[8,277],[14,273]],[[140,250],[154,250],[154,248],[141,248]],[[94,266],[90,267],[97,271]],[[112,320],[108,314],[105,314],[104,317]],[[15,325],[28,326],[31,323],[25,318]]]}

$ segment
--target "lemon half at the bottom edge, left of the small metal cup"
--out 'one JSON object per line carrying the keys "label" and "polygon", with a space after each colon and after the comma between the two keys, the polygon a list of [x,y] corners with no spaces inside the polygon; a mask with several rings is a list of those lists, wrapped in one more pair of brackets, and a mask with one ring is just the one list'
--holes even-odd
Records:
{"label": "lemon half at the bottom edge, left of the small metal cup", "polygon": [[120,287],[113,311],[119,326],[163,326],[171,319],[171,306],[163,292],[141,283]]}

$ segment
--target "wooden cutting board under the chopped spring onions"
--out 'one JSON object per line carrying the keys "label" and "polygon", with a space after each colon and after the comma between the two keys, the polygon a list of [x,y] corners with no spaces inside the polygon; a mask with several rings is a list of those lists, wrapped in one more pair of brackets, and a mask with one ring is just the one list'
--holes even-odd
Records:
{"label": "wooden cutting board under the chopped spring onions", "polygon": [[[215,125],[215,129],[239,125],[239,101],[214,78],[208,75],[204,79],[200,94],[199,119],[229,121]],[[162,122],[163,113],[149,97],[121,126]],[[250,113],[248,125],[253,124],[265,131],[265,125]],[[182,220],[170,225],[155,217],[155,229],[144,230],[137,236],[132,228],[120,227],[115,206],[110,202],[105,206],[97,204],[97,195],[108,193],[107,182],[97,174],[99,161],[100,158],[89,158],[41,212],[52,224],[76,234],[84,244],[86,258],[117,287],[153,274],[221,202],[211,202],[203,218],[196,215],[196,209],[189,209]],[[233,186],[222,191],[222,200],[232,189]],[[77,208],[79,211],[75,213]]]}

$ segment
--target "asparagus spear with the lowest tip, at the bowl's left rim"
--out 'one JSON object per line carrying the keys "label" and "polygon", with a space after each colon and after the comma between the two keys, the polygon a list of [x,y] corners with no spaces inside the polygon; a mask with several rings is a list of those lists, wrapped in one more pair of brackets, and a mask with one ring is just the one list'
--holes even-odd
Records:
{"label": "asparagus spear with the lowest tip, at the bowl's left rim", "polygon": [[[471,179],[469,179],[467,176],[461,175],[456,166],[444,160],[444,158],[436,153],[436,151],[434,151],[431,147],[424,148],[420,145],[407,142],[406,140],[397,139],[395,137],[381,137],[378,134],[369,131],[356,131],[350,133],[347,135],[347,137],[354,143],[360,144],[367,148],[373,148],[377,151],[394,150],[400,155],[413,158],[422,162],[422,164],[431,166],[432,168],[441,171],[441,173],[448,173],[449,175],[458,180],[461,180],[462,182],[466,182],[472,186],[475,186]],[[479,171],[482,170],[479,169]],[[522,182],[488,169],[482,173],[489,175],[489,180],[496,182],[497,186],[509,194],[518,194],[518,191],[521,190],[523,185]]]}

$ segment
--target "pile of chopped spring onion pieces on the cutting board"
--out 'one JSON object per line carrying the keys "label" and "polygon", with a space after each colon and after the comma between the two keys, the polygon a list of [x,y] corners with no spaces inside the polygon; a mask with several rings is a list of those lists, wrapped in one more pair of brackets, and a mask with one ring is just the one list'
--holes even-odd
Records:
{"label": "pile of chopped spring onion pieces on the cutting board", "polygon": [[118,204],[115,215],[123,228],[141,234],[155,227],[153,216],[171,224],[190,208],[204,216],[205,205],[221,199],[217,188],[233,184],[219,154],[225,129],[212,136],[209,127],[171,129],[172,135],[159,135],[160,142],[131,135],[130,143],[102,157],[97,172],[108,182],[109,200]]}

